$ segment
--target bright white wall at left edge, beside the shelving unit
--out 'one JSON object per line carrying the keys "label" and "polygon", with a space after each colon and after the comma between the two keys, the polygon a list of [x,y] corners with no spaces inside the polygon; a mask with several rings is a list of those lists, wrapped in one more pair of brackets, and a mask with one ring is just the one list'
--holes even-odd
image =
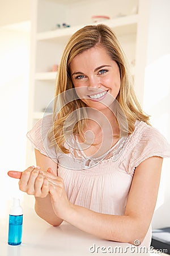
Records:
{"label": "bright white wall at left edge, beside the shelving unit", "polygon": [[[23,28],[26,27],[26,31]],[[0,28],[1,106],[1,217],[12,196],[22,199],[18,180],[8,170],[24,170],[28,112],[29,26],[28,22]]]}

